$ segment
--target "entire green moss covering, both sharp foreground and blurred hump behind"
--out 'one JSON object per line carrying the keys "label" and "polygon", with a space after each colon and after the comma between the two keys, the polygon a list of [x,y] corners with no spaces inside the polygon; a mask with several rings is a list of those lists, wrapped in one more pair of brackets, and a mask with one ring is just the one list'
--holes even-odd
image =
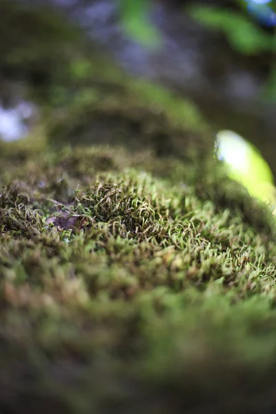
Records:
{"label": "entire green moss covering, both sharp foreground and blurred hump behind", "polygon": [[275,217],[188,99],[4,3],[4,72],[43,108],[0,142],[0,412],[273,412]]}

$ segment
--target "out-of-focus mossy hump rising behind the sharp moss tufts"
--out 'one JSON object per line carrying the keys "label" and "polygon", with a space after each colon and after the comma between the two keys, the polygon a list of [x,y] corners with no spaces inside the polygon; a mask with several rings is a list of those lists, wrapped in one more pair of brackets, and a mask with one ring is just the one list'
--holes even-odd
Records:
{"label": "out-of-focus mossy hump rising behind the sharp moss tufts", "polygon": [[[75,66],[83,68],[81,75]],[[194,152],[201,157],[209,154],[213,147],[210,127],[188,99],[134,80],[103,57],[81,60],[79,65],[75,61],[68,71],[75,82],[76,70],[77,90],[72,88],[69,103],[60,99],[54,122],[50,112],[48,137],[55,146],[63,146],[64,141],[72,146],[112,144],[186,159]],[[63,94],[57,90],[56,95]]]}

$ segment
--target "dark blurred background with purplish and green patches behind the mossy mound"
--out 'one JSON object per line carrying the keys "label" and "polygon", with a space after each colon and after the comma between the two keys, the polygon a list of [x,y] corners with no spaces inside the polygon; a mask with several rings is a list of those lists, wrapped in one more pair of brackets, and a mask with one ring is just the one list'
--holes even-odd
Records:
{"label": "dark blurred background with purplish and green patches behind the mossy mound", "polygon": [[275,1],[1,0],[0,16],[2,139],[26,135],[41,108],[70,102],[83,56],[105,53],[192,99],[214,135],[252,141],[276,175]]}

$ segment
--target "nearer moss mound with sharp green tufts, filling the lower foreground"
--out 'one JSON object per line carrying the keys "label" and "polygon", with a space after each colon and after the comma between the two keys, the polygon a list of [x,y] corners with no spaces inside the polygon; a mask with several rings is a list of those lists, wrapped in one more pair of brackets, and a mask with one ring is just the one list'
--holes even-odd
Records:
{"label": "nearer moss mound with sharp green tufts, filling the lower foreground", "polygon": [[3,412],[270,412],[276,250],[265,206],[215,161],[198,182],[190,164],[148,151],[18,150],[14,165],[7,154]]}

